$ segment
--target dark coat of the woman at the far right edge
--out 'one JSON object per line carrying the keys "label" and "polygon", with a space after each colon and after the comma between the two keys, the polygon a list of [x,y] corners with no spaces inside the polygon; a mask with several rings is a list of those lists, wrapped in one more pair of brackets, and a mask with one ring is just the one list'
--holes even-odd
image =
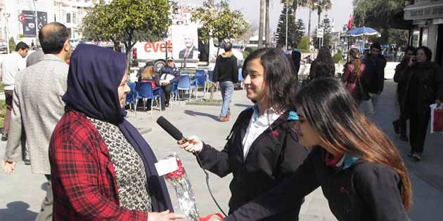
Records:
{"label": "dark coat of the woman at the far right edge", "polygon": [[404,107],[404,112],[407,113],[409,109],[409,103],[411,103],[411,98],[409,98],[409,88],[411,86],[411,80],[413,79],[413,74],[416,73],[418,77],[418,91],[416,101],[417,113],[419,114],[430,114],[429,105],[433,104],[436,99],[443,100],[443,72],[439,65],[435,62],[425,62],[424,64],[416,64],[412,67],[407,66],[404,69],[404,78],[406,91],[403,94],[402,107]]}

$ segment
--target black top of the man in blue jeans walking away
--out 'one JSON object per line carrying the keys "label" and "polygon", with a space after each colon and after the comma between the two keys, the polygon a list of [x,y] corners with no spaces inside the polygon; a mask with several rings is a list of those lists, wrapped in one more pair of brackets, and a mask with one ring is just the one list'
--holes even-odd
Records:
{"label": "black top of the man in blue jeans walking away", "polygon": [[214,77],[212,82],[238,81],[237,58],[232,52],[222,53],[215,60]]}

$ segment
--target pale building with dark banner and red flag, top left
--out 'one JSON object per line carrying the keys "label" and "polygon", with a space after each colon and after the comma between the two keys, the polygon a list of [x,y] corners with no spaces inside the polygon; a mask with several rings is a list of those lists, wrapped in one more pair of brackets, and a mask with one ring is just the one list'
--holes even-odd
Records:
{"label": "pale building with dark banner and red flag, top left", "polygon": [[[82,38],[79,27],[86,11],[99,0],[2,0],[0,1],[0,44],[13,37],[30,46],[37,44],[39,27],[60,22],[68,27],[71,41]],[[36,15],[37,12],[37,25]]]}

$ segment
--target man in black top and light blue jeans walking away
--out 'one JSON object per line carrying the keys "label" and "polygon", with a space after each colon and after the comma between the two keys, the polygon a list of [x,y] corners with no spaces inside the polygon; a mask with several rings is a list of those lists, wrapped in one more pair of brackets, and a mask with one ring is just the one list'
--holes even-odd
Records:
{"label": "man in black top and light blue jeans walking away", "polygon": [[221,113],[219,119],[221,122],[229,121],[231,111],[229,103],[233,93],[234,83],[238,81],[238,66],[237,58],[232,53],[232,43],[224,44],[224,53],[217,57],[214,67],[214,84],[220,84],[221,97],[223,98],[223,105],[221,106]]}

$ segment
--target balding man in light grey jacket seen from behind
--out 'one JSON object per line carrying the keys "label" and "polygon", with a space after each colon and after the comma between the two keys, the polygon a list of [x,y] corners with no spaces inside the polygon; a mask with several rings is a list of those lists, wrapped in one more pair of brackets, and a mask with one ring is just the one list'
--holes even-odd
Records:
{"label": "balding man in light grey jacket seen from behind", "polygon": [[48,147],[53,129],[65,112],[61,96],[66,92],[68,65],[65,59],[72,50],[68,28],[58,22],[39,30],[44,58],[24,69],[15,79],[11,129],[4,156],[6,173],[12,173],[22,160],[22,139],[30,150],[32,173],[48,180],[46,197],[36,220],[52,220],[53,194]]}

